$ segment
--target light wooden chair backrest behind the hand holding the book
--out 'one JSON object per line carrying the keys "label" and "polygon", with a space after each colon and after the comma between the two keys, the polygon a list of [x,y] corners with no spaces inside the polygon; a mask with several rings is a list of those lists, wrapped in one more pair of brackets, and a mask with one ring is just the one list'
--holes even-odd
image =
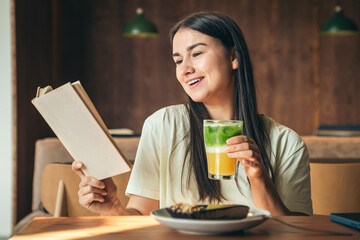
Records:
{"label": "light wooden chair backrest behind the hand holding the book", "polygon": [[[130,173],[124,173],[113,177],[118,189],[118,197],[123,206],[126,206],[128,198],[125,189],[129,181]],[[64,184],[64,195],[58,195],[59,182]],[[57,199],[63,199],[61,216],[96,216],[79,203],[78,190],[80,178],[71,169],[71,164],[48,164],[43,171],[41,181],[41,201],[45,209],[54,215],[56,212]]]}

